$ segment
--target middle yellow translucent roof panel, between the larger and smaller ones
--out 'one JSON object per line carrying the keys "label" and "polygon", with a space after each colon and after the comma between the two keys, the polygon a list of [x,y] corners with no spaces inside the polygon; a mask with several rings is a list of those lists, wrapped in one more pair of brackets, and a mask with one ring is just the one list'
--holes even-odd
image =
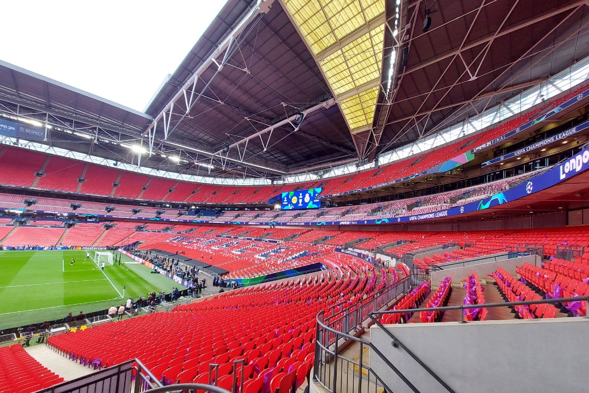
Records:
{"label": "middle yellow translucent roof panel, between the larger and smaller ones", "polygon": [[319,62],[335,95],[380,78],[384,30],[380,25]]}

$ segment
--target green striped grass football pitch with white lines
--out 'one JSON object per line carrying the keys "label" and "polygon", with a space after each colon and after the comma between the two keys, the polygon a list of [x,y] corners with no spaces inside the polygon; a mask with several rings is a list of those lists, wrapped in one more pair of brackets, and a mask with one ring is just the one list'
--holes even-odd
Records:
{"label": "green striped grass football pitch with white lines", "polygon": [[75,250],[0,252],[0,329],[100,311],[129,296],[145,298],[147,292],[179,286],[146,266],[122,263],[131,260],[124,255],[121,266],[107,265],[104,272],[85,256]]}

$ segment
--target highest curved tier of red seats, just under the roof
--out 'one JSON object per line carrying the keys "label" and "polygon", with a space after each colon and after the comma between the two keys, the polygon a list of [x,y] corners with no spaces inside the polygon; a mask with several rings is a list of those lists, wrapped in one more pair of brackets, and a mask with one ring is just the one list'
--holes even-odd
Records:
{"label": "highest curved tier of red seats, just under the roof", "polygon": [[[41,170],[48,156],[21,148],[4,146],[0,149],[0,183],[14,186],[31,187],[39,179],[36,187],[50,190],[75,191],[78,188],[78,177],[85,167],[85,181],[80,192],[114,196],[165,200],[169,202],[187,203],[268,203],[268,200],[282,191],[322,187],[323,195],[350,193],[365,187],[376,187],[390,181],[402,179],[413,174],[422,173],[438,164],[482,146],[493,138],[530,121],[541,111],[560,105],[564,101],[584,91],[587,85],[576,88],[569,94],[541,104],[531,111],[519,115],[498,127],[491,128],[480,134],[475,134],[455,141],[447,146],[437,147],[419,156],[409,157],[402,161],[387,164],[378,169],[370,169],[355,174],[317,180],[315,182],[294,183],[285,186],[215,186],[212,184],[189,183],[153,177],[141,174],[123,174],[124,171],[110,167],[97,166],[68,160],[61,157],[51,157],[45,167],[45,176],[37,178],[36,172]],[[119,178],[119,174],[120,178]],[[118,178],[118,181],[117,181]],[[115,181],[119,184],[113,187]],[[147,190],[143,190],[147,187]],[[170,191],[172,190],[172,191]]]}

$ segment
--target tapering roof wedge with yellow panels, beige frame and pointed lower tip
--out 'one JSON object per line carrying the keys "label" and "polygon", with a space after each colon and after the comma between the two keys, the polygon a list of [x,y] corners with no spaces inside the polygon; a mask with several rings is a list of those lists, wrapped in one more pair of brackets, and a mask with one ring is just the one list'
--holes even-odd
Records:
{"label": "tapering roof wedge with yellow panels, beige frame and pointed lower tip", "polygon": [[[323,2],[279,1],[317,63],[333,97],[336,98],[336,103],[348,126],[356,154],[359,159],[364,159],[368,154],[369,145],[369,138],[366,136],[374,131],[373,124],[379,97],[386,93],[386,86],[389,85],[387,81],[384,82],[385,88],[381,85],[384,75],[382,55],[379,54],[375,62],[376,56],[366,56],[366,53],[384,52],[384,42],[388,41],[385,37],[393,36],[393,31],[398,29],[399,12],[393,12],[395,17],[392,23],[389,23],[386,20],[385,1],[382,1],[382,9],[378,8],[377,4],[376,8],[370,10],[365,8],[369,5],[368,3],[360,3],[363,18],[360,21],[352,15],[352,12],[346,13],[347,9],[326,9]],[[399,10],[402,3],[402,0],[393,0],[391,2],[393,10]],[[302,17],[304,14],[300,12],[301,8],[307,8],[307,12],[316,13],[316,17],[305,20]],[[375,13],[372,14],[372,12]],[[342,16],[349,18],[348,21],[340,21]],[[346,24],[343,34],[340,23]],[[321,36],[323,38],[313,41],[313,37],[319,36],[319,30],[326,30],[329,34],[325,35],[323,31]],[[393,41],[396,42],[396,39],[393,38]],[[369,51],[365,49],[359,51],[360,47],[366,45],[370,45]],[[360,77],[360,74],[356,72],[359,64],[363,64],[363,68],[370,72]],[[394,68],[396,68],[396,61],[393,63]],[[340,69],[346,70],[346,73],[336,72]]]}

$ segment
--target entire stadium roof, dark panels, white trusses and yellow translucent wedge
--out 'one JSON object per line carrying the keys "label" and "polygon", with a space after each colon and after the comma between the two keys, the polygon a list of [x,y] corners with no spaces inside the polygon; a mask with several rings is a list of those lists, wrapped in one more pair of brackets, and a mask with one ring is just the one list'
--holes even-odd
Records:
{"label": "entire stadium roof, dark panels, white trusses and yellow translucent wedge", "polygon": [[366,163],[542,83],[589,55],[588,21],[567,0],[229,0],[146,114],[6,63],[0,110],[88,133],[51,132],[74,151],[280,177]]}

